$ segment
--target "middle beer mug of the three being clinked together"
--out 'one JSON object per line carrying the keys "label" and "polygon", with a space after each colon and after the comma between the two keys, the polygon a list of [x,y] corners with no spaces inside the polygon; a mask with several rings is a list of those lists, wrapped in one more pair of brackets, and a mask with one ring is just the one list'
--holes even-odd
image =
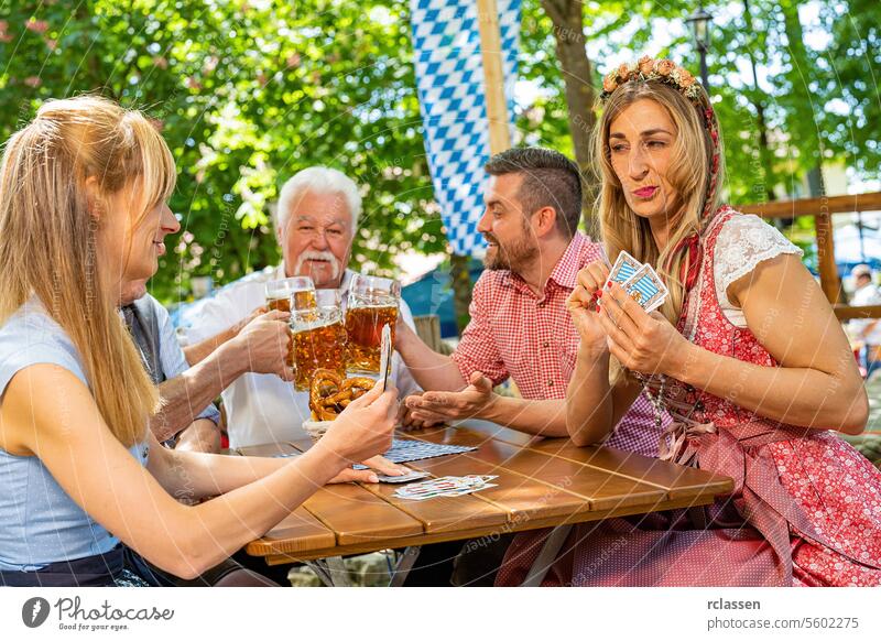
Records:
{"label": "middle beer mug of the three being clinked together", "polygon": [[317,290],[315,301],[314,307],[291,313],[296,362],[294,387],[300,391],[309,389],[316,369],[346,376],[346,327],[339,290]]}

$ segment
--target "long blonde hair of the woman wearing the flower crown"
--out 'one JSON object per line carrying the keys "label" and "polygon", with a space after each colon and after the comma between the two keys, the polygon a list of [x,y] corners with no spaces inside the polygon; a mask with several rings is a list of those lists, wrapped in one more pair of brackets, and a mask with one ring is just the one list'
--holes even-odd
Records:
{"label": "long blonde hair of the woman wearing the flower crown", "polygon": [[[701,101],[709,105],[704,89],[699,90]],[[673,161],[665,178],[676,189],[678,202],[673,206],[676,214],[663,251],[659,251],[654,242],[649,221],[637,216],[628,206],[621,182],[612,169],[609,150],[612,121],[630,105],[644,99],[653,100],[666,109],[677,131],[673,143]],[[597,172],[602,181],[597,208],[607,256],[614,260],[621,250],[626,250],[637,260],[655,268],[670,290],[661,313],[675,325],[685,298],[685,283],[681,275],[687,273],[690,267],[687,248],[681,242],[694,233],[699,235],[708,222],[701,214],[705,209],[716,211],[719,205],[719,189],[713,189],[711,203],[706,202],[714,141],[704,126],[703,116],[694,104],[668,85],[651,80],[626,83],[606,102],[594,132],[594,144]],[[725,166],[720,148],[718,152],[716,184],[721,185]]]}

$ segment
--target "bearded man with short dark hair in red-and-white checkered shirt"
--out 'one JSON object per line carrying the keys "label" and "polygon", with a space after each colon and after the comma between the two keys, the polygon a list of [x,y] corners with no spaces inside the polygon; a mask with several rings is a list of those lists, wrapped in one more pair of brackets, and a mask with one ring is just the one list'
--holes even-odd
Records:
{"label": "bearded man with short dark hair in red-and-white checkered shirt", "polygon": [[[395,347],[426,391],[406,406],[416,422],[485,419],[521,432],[568,436],[566,388],[578,332],[566,311],[578,270],[603,257],[577,230],[581,183],[577,165],[548,149],[510,149],[486,165],[490,182],[478,225],[489,246],[474,289],[471,320],[452,356],[425,345],[399,323]],[[513,379],[522,399],[493,387]],[[660,433],[641,395],[607,442],[656,456]]]}

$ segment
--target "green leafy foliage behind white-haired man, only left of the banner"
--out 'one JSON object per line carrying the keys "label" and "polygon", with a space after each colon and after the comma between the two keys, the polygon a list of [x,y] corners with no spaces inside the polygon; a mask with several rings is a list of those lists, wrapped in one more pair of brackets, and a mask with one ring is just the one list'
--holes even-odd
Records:
{"label": "green leafy foliage behind white-haired man, only left of the banner", "polygon": [[400,251],[446,247],[404,10],[373,0],[6,0],[0,135],[43,100],[86,91],[156,120],[180,169],[172,208],[183,227],[152,281],[165,302],[185,296],[192,276],[229,282],[276,263],[268,205],[314,164],[362,186],[354,261],[393,271]]}

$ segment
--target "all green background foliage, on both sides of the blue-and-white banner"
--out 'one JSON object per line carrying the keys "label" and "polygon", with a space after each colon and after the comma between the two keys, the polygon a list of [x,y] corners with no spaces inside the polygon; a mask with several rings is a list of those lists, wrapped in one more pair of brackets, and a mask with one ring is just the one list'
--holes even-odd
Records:
{"label": "all green background foliage, on both sides of the blue-and-white banner", "polygon": [[[555,4],[577,0],[553,0]],[[0,0],[0,137],[53,97],[101,91],[144,108],[181,176],[183,231],[153,290],[225,283],[279,260],[269,203],[297,170],[326,164],[365,192],[354,260],[392,272],[446,243],[422,140],[407,2],[390,0]],[[642,53],[697,73],[686,0],[589,0],[585,41],[601,75]],[[749,14],[746,7],[749,6]],[[710,91],[732,203],[801,195],[819,162],[877,178],[878,0],[711,0]],[[573,155],[554,24],[523,0],[519,141]],[[801,40],[801,43],[798,42]],[[755,78],[751,69],[757,69]],[[764,132],[765,135],[762,135]]]}

